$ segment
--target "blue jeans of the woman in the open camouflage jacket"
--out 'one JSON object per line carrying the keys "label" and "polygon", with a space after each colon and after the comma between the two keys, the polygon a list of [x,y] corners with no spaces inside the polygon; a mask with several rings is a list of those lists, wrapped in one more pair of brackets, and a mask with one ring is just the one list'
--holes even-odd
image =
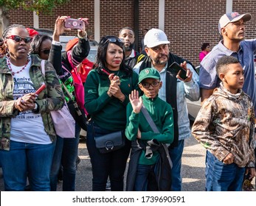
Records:
{"label": "blue jeans of the woman in the open camouflage jacket", "polygon": [[0,150],[4,191],[50,191],[49,174],[55,142],[49,144],[10,141],[10,151]]}

